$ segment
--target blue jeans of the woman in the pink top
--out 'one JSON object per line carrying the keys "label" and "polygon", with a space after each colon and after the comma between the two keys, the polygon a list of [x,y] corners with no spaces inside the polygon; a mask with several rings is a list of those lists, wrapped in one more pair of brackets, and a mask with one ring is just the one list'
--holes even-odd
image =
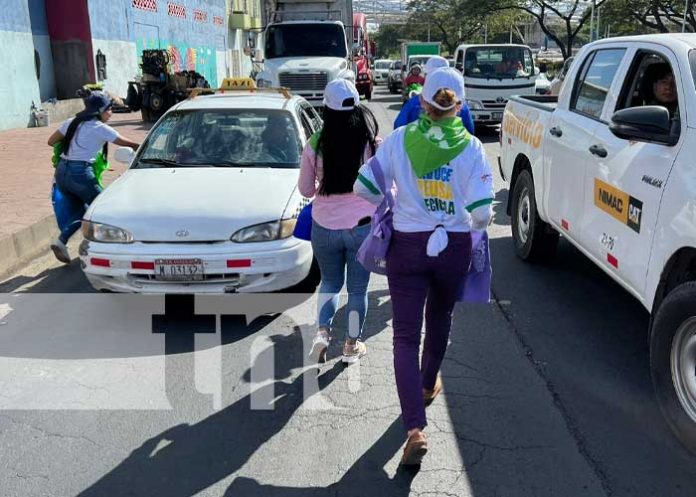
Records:
{"label": "blue jeans of the woman in the pink top", "polygon": [[312,250],[321,270],[319,286],[319,326],[331,328],[338,308],[338,294],[345,282],[348,287],[348,338],[362,336],[367,314],[367,285],[370,272],[357,260],[370,225],[347,230],[326,229],[312,222]]}

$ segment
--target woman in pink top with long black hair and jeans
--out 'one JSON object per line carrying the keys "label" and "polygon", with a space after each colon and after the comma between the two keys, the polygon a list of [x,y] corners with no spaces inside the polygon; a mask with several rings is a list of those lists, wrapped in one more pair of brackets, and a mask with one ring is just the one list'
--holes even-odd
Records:
{"label": "woman in pink top with long black hair and jeans", "polygon": [[319,329],[310,356],[326,360],[338,294],[348,288],[348,330],[343,362],[365,355],[360,340],[367,314],[370,273],[357,261],[357,252],[370,230],[375,207],[353,193],[358,169],[377,148],[377,121],[360,105],[355,85],[338,79],[324,92],[324,127],[302,153],[299,190],[315,197],[312,206],[312,249],[321,270]]}

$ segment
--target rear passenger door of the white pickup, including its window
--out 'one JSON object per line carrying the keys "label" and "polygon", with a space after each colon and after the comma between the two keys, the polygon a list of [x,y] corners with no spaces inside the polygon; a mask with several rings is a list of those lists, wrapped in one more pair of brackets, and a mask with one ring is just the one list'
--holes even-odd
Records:
{"label": "rear passenger door of the white pickup, including its window", "polygon": [[[544,137],[544,170],[548,171],[547,210],[552,224],[580,241],[588,150],[600,125],[604,100],[625,50],[589,52],[565,89]],[[605,89],[606,88],[606,89]]]}

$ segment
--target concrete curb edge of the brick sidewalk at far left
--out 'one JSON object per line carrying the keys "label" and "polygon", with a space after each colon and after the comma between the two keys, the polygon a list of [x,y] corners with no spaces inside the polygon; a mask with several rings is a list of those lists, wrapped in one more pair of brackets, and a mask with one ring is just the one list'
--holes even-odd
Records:
{"label": "concrete curb edge of the brick sidewalk at far left", "polygon": [[47,252],[57,236],[56,218],[50,215],[17,233],[0,238],[0,280]]}

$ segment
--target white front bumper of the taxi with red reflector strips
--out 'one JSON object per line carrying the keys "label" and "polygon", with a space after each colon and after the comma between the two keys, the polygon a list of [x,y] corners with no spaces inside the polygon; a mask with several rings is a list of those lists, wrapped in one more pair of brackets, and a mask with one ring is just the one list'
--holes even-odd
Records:
{"label": "white front bumper of the taxi with red reflector strips", "polygon": [[[132,293],[272,292],[302,282],[312,266],[310,242],[131,243],[83,241],[80,264],[97,290]],[[166,281],[157,259],[200,259],[200,281]],[[96,264],[95,264],[96,263]]]}

